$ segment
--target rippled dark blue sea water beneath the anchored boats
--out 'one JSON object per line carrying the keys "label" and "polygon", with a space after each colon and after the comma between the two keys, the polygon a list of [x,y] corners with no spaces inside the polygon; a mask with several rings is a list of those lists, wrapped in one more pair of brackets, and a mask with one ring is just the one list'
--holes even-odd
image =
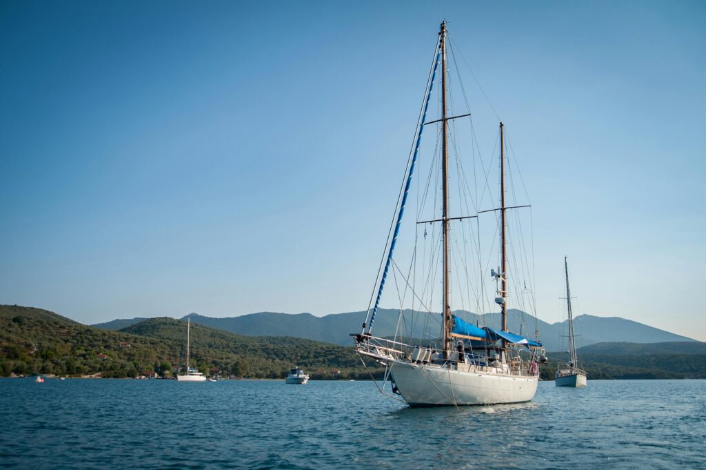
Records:
{"label": "rippled dark blue sea water beneath the anchored boats", "polygon": [[373,382],[0,379],[0,468],[706,469],[705,380],[410,409]]}

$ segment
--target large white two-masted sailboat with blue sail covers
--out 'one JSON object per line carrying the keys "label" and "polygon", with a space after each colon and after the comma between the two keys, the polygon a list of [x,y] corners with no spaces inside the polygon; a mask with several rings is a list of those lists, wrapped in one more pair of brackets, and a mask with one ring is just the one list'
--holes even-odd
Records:
{"label": "large white two-masted sailboat with blue sail covers", "polygon": [[[453,52],[453,51],[452,51]],[[449,123],[452,119],[466,117],[470,114],[458,116],[448,116],[447,98],[447,28],[445,21],[441,23],[441,30],[438,34],[438,42],[434,51],[434,61],[430,78],[426,88],[426,100],[423,104],[423,111],[420,112],[419,127],[415,134],[415,144],[410,152],[410,160],[407,163],[407,173],[403,182],[403,189],[400,189],[400,199],[398,199],[395,216],[396,225],[390,225],[390,235],[388,243],[385,245],[387,261],[381,262],[378,270],[376,286],[371,296],[371,303],[366,315],[366,320],[362,325],[359,334],[352,334],[355,341],[355,350],[361,360],[373,360],[378,365],[385,367],[385,378],[382,386],[378,389],[385,393],[386,384],[390,384],[393,394],[390,396],[401,396],[409,406],[462,406],[481,404],[511,404],[530,401],[537,391],[539,380],[539,362],[546,362],[544,358],[544,348],[538,340],[535,329],[534,340],[520,334],[514,334],[508,330],[508,253],[507,253],[507,231],[508,222],[506,214],[508,209],[527,207],[512,206],[505,204],[505,129],[503,122],[500,122],[500,167],[501,167],[501,196],[500,207],[488,211],[477,211],[474,216],[452,217],[449,204],[449,144],[450,135]],[[426,112],[429,108],[431,90],[436,79],[436,71],[441,62],[441,119],[426,122]],[[499,119],[498,119],[499,120]],[[441,223],[439,233],[438,252],[439,260],[434,259],[433,266],[443,265],[443,276],[441,285],[443,298],[441,305],[443,312],[441,315],[434,313],[431,309],[427,312],[433,319],[441,317],[441,337],[436,341],[426,341],[422,339],[416,345],[407,336],[393,339],[388,337],[373,336],[373,322],[385,286],[385,279],[388,276],[390,266],[393,266],[395,283],[402,283],[413,292],[413,298],[417,298],[421,303],[421,294],[414,291],[411,281],[404,277],[393,262],[393,252],[397,244],[397,236],[400,233],[402,215],[405,212],[409,187],[412,182],[414,166],[417,163],[417,153],[421,141],[422,129],[425,125],[437,123],[441,127],[438,134],[438,141],[441,141],[441,191],[443,205],[441,216],[433,216],[430,221],[421,221],[417,224]],[[436,155],[436,152],[435,152]],[[458,164],[458,163],[457,163]],[[421,170],[420,170],[421,171]],[[430,173],[431,174],[431,173]],[[427,187],[430,185],[427,184]],[[435,199],[436,201],[436,199]],[[433,208],[437,210],[436,206]],[[495,213],[498,215],[497,227],[499,232],[498,245],[500,245],[500,266],[498,270],[491,270],[491,276],[496,281],[495,303],[501,310],[501,322],[499,327],[480,327],[478,324],[467,322],[460,317],[460,312],[453,312],[451,309],[451,225],[452,221],[468,221],[477,217],[480,213]],[[419,216],[419,210],[418,210]],[[392,227],[394,228],[394,232]],[[433,225],[434,227],[438,225]],[[494,225],[493,225],[494,226]],[[424,239],[426,240],[426,229]],[[455,241],[454,241],[455,243]],[[494,246],[494,245],[493,245]],[[457,246],[453,247],[457,249]],[[443,252],[443,256],[441,255]],[[436,255],[434,255],[436,256]],[[383,260],[385,257],[383,256]],[[430,266],[432,264],[430,263]],[[431,268],[430,269],[436,269]],[[402,281],[399,281],[402,278]],[[377,296],[375,296],[377,292]],[[399,287],[398,287],[399,293]],[[375,298],[374,307],[372,306]],[[404,309],[400,307],[400,318]],[[459,315],[456,315],[459,314]],[[398,328],[402,324],[401,319],[397,322]],[[398,341],[399,340],[399,341]],[[386,393],[385,393],[386,394]]]}

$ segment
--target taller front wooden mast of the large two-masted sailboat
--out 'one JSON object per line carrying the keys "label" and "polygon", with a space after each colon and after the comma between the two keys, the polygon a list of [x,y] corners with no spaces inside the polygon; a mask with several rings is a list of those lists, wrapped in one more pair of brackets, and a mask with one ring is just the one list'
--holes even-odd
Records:
{"label": "taller front wooden mast of the large two-masted sailboat", "polygon": [[441,23],[441,129],[442,139],[442,170],[443,180],[443,349],[444,353],[450,351],[449,337],[451,329],[451,301],[450,301],[450,266],[448,243],[448,122],[446,119],[446,22]]}

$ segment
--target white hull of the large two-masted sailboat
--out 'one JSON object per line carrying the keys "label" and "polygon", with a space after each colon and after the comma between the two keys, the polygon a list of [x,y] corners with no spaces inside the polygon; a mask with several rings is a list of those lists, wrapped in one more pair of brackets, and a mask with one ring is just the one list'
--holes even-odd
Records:
{"label": "white hull of the large two-masted sailboat", "polygon": [[391,370],[409,406],[522,403],[537,392],[537,376],[448,370],[395,360]]}

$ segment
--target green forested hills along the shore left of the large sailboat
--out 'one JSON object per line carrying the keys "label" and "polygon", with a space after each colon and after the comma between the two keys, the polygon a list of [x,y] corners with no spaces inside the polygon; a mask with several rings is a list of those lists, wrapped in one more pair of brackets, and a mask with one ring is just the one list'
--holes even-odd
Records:
{"label": "green forested hills along the shore left of the large sailboat", "polygon": [[[125,331],[83,324],[47,310],[0,305],[0,375],[135,377],[169,375],[184,358],[186,322],[148,319]],[[191,364],[238,377],[282,377],[299,365],[313,378],[368,377],[352,348],[295,338],[253,338],[191,325]]]}

